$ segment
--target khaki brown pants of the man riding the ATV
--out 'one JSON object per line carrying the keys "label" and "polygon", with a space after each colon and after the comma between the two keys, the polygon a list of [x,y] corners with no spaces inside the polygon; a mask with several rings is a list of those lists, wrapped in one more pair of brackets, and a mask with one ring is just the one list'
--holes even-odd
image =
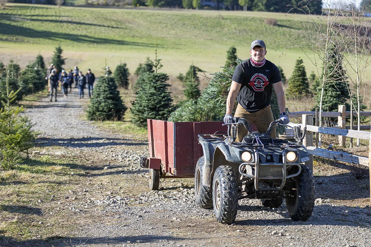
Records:
{"label": "khaki brown pants of the man riding the ATV", "polygon": [[[270,110],[270,106],[267,106],[264,109],[256,111],[254,113],[249,113],[240,104],[238,104],[234,116],[243,117],[251,124],[255,124],[260,134],[265,133],[269,127],[269,124],[273,121],[273,114],[272,110]],[[247,134],[246,128],[240,125],[237,129],[236,141],[241,142],[243,140],[243,137],[246,136],[246,134]],[[277,138],[275,128],[273,128],[272,131],[270,132],[270,137]]]}

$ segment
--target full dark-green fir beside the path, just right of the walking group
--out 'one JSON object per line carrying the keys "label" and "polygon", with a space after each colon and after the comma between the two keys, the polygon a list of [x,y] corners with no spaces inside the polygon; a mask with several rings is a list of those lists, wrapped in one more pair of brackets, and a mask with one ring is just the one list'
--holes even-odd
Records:
{"label": "full dark-green fir beside the path, just right of the walking group", "polygon": [[122,102],[113,77],[99,77],[87,110],[89,120],[121,120],[127,107]]}

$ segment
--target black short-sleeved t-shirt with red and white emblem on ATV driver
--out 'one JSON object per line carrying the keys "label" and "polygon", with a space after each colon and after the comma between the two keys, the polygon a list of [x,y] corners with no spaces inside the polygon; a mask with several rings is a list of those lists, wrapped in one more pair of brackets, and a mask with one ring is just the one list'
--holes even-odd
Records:
{"label": "black short-sleeved t-shirt with red and white emblem on ATV driver", "polygon": [[250,59],[237,66],[232,80],[242,84],[237,102],[246,111],[253,113],[270,105],[272,84],[281,81],[281,75],[272,62],[265,60],[262,67],[254,67]]}

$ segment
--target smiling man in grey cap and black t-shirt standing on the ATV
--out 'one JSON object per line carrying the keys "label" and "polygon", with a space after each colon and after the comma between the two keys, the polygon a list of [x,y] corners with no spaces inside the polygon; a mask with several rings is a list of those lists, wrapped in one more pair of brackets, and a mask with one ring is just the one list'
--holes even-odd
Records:
{"label": "smiling man in grey cap and black t-shirt standing on the ATV", "polygon": [[[270,109],[272,89],[277,95],[280,123],[289,123],[289,118],[286,116],[286,100],[281,75],[278,67],[265,59],[266,54],[264,41],[254,40],[250,46],[250,59],[243,61],[236,67],[227,97],[224,123],[233,122],[232,111],[237,98],[238,105],[234,117],[242,117],[250,123],[254,123],[259,133],[265,133],[273,121]],[[236,141],[241,142],[246,134],[247,130],[244,127],[238,128]],[[270,137],[276,138],[275,129],[271,131]]]}

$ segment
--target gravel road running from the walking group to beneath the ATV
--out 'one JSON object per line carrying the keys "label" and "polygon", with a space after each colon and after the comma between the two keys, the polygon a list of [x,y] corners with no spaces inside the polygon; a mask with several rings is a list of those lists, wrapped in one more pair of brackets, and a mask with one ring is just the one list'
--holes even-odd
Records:
{"label": "gravel road running from the walking group to beneath the ATV", "polygon": [[[86,101],[74,89],[67,99],[45,98],[27,109],[41,133],[39,145],[85,154],[89,174],[66,196],[79,200],[63,204],[76,216],[73,230],[45,246],[371,246],[371,207],[365,200],[357,206],[361,188],[342,191],[349,203],[331,194],[335,186],[341,191],[344,179],[354,183],[348,173],[315,177],[317,199],[308,221],[292,221],[285,204],[270,209],[260,200],[240,200],[235,223],[219,224],[213,210],[195,205],[193,179],[162,179],[160,190],[149,191],[148,171],[138,162],[148,156],[147,141],[82,120]],[[362,193],[364,199],[368,188]]]}

